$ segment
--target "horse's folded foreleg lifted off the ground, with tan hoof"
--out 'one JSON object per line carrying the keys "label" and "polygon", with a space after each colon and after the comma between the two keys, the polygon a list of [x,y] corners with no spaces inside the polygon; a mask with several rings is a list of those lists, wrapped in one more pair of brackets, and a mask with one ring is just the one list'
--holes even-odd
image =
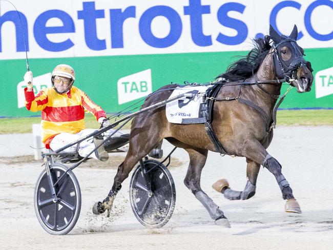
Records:
{"label": "horse's folded foreleg lifted off the ground, with tan hoof", "polygon": [[213,188],[217,192],[224,194],[224,197],[229,200],[247,200],[253,197],[256,193],[257,177],[260,170],[260,164],[246,158],[247,182],[243,191],[234,191],[229,188],[229,183],[226,179],[220,179],[213,184]]}

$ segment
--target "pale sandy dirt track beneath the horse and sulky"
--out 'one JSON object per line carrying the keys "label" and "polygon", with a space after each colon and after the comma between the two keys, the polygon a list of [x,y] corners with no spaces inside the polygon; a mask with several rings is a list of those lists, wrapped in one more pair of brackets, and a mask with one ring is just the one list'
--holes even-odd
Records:
{"label": "pale sandy dirt track beneath the horse and sulky", "polygon": [[[245,159],[210,153],[201,186],[220,206],[232,227],[215,225],[201,203],[185,188],[183,178],[188,156],[177,149],[173,155],[178,159],[174,161],[177,166],[170,168],[177,199],[168,224],[152,230],[136,220],[129,202],[130,178],[124,181],[115,199],[111,217],[93,215],[92,205],[108,194],[116,168],[88,166],[74,170],[82,192],[82,207],[76,226],[66,236],[47,234],[36,219],[33,191],[42,170],[41,163],[33,161],[32,156],[14,160],[11,157],[15,152],[4,143],[4,139],[23,137],[30,138],[30,135],[0,136],[1,249],[332,249],[333,127],[279,127],[268,148],[269,154],[281,163],[302,214],[284,212],[285,202],[278,184],[266,169],[260,170],[253,198],[226,200],[211,186],[223,177],[231,188],[243,190]],[[28,147],[29,143],[26,139],[20,145]],[[165,152],[171,149],[165,143]],[[21,147],[16,155],[27,150]],[[120,161],[123,158],[116,157]]]}

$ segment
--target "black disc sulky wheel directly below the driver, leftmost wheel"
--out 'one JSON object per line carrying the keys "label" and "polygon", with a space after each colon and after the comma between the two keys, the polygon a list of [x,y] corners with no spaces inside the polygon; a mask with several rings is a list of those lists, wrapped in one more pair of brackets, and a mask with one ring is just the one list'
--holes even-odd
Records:
{"label": "black disc sulky wheel directly below the driver, leftmost wheel", "polygon": [[[53,183],[62,176],[68,168],[63,164],[51,165]],[[53,199],[46,170],[38,177],[34,205],[37,219],[46,232],[52,235],[69,233],[80,215],[81,192],[78,181],[72,171],[55,186],[58,199]]]}

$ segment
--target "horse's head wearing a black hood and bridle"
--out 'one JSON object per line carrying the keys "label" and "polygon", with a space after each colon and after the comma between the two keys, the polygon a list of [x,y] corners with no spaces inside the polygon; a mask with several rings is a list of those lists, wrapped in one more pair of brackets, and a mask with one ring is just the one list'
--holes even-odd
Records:
{"label": "horse's head wearing a black hood and bridle", "polygon": [[296,25],[289,36],[279,35],[272,25],[269,36],[273,40],[274,67],[278,78],[286,79],[298,92],[308,92],[314,80],[313,69],[309,61],[304,59],[304,50],[298,46]]}

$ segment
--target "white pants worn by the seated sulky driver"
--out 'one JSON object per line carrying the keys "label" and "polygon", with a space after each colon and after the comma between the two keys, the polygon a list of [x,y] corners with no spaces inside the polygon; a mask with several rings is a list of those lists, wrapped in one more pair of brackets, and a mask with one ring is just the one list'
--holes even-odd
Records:
{"label": "white pants worn by the seated sulky driver", "polygon": [[[67,145],[73,141],[76,141],[82,137],[85,137],[86,135],[89,135],[95,131],[96,130],[94,130],[94,129],[84,129],[76,134],[69,134],[69,133],[58,134],[58,135],[54,136],[54,138],[52,139],[52,141],[50,143],[50,148],[53,151],[56,151],[60,148],[63,148],[65,145]],[[77,144],[72,145],[71,147],[63,150],[62,152],[75,152],[76,147],[77,147]],[[95,144],[93,142],[93,137],[89,137],[88,139],[80,142],[80,145],[78,148],[78,154],[82,157],[86,157],[94,149],[95,149]],[[97,159],[95,152],[93,152],[89,156],[89,158]]]}

